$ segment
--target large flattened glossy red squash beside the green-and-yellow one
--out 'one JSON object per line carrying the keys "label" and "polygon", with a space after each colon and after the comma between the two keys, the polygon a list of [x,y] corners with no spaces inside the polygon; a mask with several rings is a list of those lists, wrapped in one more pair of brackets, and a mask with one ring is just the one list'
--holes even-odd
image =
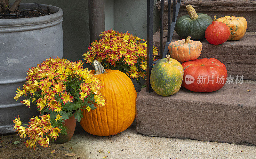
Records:
{"label": "large flattened glossy red squash beside the green-and-yellow one", "polygon": [[183,62],[181,65],[184,69],[181,85],[190,91],[217,91],[227,81],[227,69],[217,59],[196,59]]}

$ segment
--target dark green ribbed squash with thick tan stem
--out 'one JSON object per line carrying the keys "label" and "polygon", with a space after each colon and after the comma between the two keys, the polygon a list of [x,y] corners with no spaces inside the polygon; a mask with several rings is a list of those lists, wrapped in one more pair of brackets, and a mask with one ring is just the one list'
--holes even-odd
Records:
{"label": "dark green ribbed squash with thick tan stem", "polygon": [[212,18],[207,14],[196,13],[189,4],[186,6],[189,15],[182,16],[176,21],[175,31],[179,36],[191,36],[191,39],[202,39],[206,28],[212,24]]}

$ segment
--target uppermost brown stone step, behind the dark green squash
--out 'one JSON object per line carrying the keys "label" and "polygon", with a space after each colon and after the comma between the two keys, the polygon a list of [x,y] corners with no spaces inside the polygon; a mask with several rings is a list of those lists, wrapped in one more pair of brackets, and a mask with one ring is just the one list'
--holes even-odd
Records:
{"label": "uppermost brown stone step, behind the dark green squash", "polygon": [[[172,0],[173,1],[173,0]],[[178,18],[188,15],[185,7],[191,4],[197,13],[205,13],[210,17],[217,15],[217,18],[222,16],[244,17],[247,20],[248,32],[256,32],[256,1],[255,0],[182,0]],[[156,3],[160,11],[160,1]],[[164,30],[167,30],[168,24],[168,0],[164,0]]]}

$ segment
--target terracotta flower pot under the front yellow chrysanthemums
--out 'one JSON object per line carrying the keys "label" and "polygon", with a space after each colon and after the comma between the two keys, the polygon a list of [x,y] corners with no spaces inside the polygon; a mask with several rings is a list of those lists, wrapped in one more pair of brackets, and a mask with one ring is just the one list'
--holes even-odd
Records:
{"label": "terracotta flower pot under the front yellow chrysanthemums", "polygon": [[67,135],[59,134],[59,136],[56,140],[53,141],[53,143],[63,144],[68,142],[72,138],[76,128],[76,119],[74,117],[74,114],[73,116],[64,121],[65,123],[62,124],[67,128]]}

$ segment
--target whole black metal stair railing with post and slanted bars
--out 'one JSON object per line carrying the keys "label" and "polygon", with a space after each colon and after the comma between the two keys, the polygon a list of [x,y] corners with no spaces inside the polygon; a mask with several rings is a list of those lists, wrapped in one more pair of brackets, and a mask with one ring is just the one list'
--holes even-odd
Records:
{"label": "whole black metal stair railing with post and slanted bars", "polygon": [[[164,0],[161,0],[161,9],[160,9],[160,59],[163,59],[168,53],[168,46],[172,41],[172,35],[174,31],[174,27],[176,24],[176,20],[178,17],[178,13],[180,10],[181,0],[173,0],[173,12],[172,12],[172,22],[171,22],[171,2],[168,1],[168,30],[167,30],[167,42],[165,48],[163,50],[163,15],[164,15]],[[153,68],[153,64],[157,61],[153,62],[153,8],[154,8],[154,0],[148,0],[147,2],[147,92],[152,91],[152,87],[150,85],[150,74]]]}

